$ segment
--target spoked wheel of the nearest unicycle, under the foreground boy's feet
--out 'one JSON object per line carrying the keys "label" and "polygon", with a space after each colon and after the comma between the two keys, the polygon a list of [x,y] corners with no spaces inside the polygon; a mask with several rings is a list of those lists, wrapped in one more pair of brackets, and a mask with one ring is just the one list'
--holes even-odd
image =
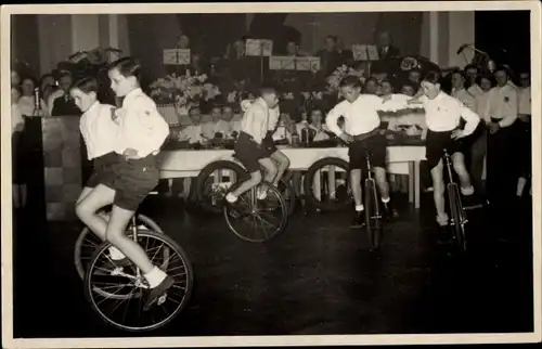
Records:
{"label": "spoked wheel of the nearest unicycle, under the foreground boy's feet", "polygon": [[[129,235],[130,235],[129,237],[132,238],[131,234],[129,234]],[[157,264],[158,268],[160,268],[168,275],[172,276],[176,280],[173,287],[170,288],[167,292],[167,296],[164,297],[165,303],[159,305],[159,306],[158,305],[153,306],[153,308],[151,308],[151,310],[149,312],[143,311],[142,307],[144,303],[144,297],[143,297],[143,288],[144,287],[137,286],[136,284],[134,285],[127,284],[127,285],[121,286],[121,287],[128,287],[128,288],[132,287],[136,289],[136,292],[129,292],[129,293],[125,292],[127,297],[117,298],[117,300],[125,301],[127,298],[129,298],[128,301],[125,302],[127,307],[130,303],[132,303],[132,305],[137,303],[137,305],[134,305],[134,307],[132,307],[133,309],[125,310],[122,312],[124,313],[122,319],[125,322],[121,322],[118,319],[113,319],[112,315],[107,315],[104,313],[104,311],[101,308],[101,305],[106,303],[106,301],[111,301],[112,299],[111,299],[111,297],[104,297],[102,294],[98,293],[96,289],[100,289],[100,287],[94,286],[94,283],[100,277],[104,277],[103,273],[99,273],[96,271],[102,270],[99,261],[101,260],[101,257],[104,257],[106,255],[106,250],[111,247],[111,243],[103,243],[95,250],[95,253],[92,256],[91,262],[89,264],[89,270],[85,276],[85,283],[83,283],[85,284],[85,297],[86,297],[87,301],[91,305],[91,308],[93,309],[93,311],[106,324],[112,325],[112,326],[117,327],[117,328],[122,329],[122,331],[149,332],[149,331],[157,329],[159,327],[167,325],[186,307],[186,305],[190,300],[191,294],[192,294],[192,288],[193,288],[193,283],[194,283],[193,270],[192,270],[192,266],[191,266],[184,250],[171,237],[169,237],[168,235],[163,234],[163,233],[157,233],[157,232],[153,232],[153,231],[140,231],[140,232],[138,232],[138,243],[143,246],[142,242],[144,242],[144,241],[147,242],[147,244],[145,244],[144,246],[149,246],[149,241],[155,241],[158,243],[163,243],[165,245],[164,249],[168,249],[167,259],[166,259],[166,257],[164,257],[164,260]],[[147,256],[149,256],[149,251],[145,250],[145,253],[147,253]],[[166,254],[164,254],[164,255],[166,255]],[[156,255],[153,256],[152,261],[154,261],[155,256]],[[175,259],[175,256],[177,256],[178,258]],[[177,266],[175,263],[176,261],[179,261],[180,266],[182,268],[176,267]],[[127,268],[127,267],[125,267],[125,268]],[[139,275],[139,276],[137,276],[137,277],[133,276],[131,279],[127,277],[126,280],[129,280],[129,281],[133,280],[133,279],[136,279],[136,280],[139,279],[140,281],[143,280],[143,276],[141,276],[142,273],[141,272],[137,273],[136,267],[133,264],[131,266],[131,268],[132,268],[132,271],[134,271],[133,274]],[[183,271],[179,272],[179,269],[183,269]],[[179,276],[179,275],[182,275],[182,276]],[[117,275],[105,274],[105,277],[109,277],[109,276],[117,277],[117,279],[121,277],[121,276],[117,276]],[[181,287],[179,285],[183,285],[183,286]],[[169,306],[169,303],[173,303],[173,301],[168,302],[168,299],[173,298],[172,295],[173,295],[175,289],[182,289],[182,292],[180,292],[182,294],[182,296],[180,297],[180,300],[175,300],[173,310],[171,311],[171,313],[169,313],[163,320],[157,321],[156,323],[144,324],[141,320],[141,318],[143,318],[143,315],[145,315],[145,314],[151,315],[150,316],[151,321],[154,321],[154,320],[156,320],[157,314],[162,314],[162,313],[166,312],[165,305],[167,303]],[[99,297],[102,297],[104,299],[101,300]],[[115,300],[115,299],[113,299],[113,300]],[[156,309],[157,307],[162,307],[162,309]],[[105,308],[105,306],[104,306],[104,308]],[[116,310],[117,308],[118,308],[118,306],[115,307],[114,310]],[[151,311],[154,311],[154,310],[156,310],[156,311],[151,313]],[[129,315],[127,315],[127,314],[129,314]],[[139,316],[138,316],[138,314],[139,314]],[[137,325],[136,323],[139,323],[139,324]]]}

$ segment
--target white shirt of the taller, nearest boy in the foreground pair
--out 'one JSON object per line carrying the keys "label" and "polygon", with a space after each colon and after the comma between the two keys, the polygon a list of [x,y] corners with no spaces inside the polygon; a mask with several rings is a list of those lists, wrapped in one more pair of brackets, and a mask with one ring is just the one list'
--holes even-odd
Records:
{"label": "white shirt of the taller, nearest boy in the foreground pair", "polygon": [[133,148],[139,157],[157,154],[169,135],[169,125],[154,101],[141,89],[136,89],[125,96],[122,108],[117,111],[120,134],[115,152],[124,154],[127,148]]}

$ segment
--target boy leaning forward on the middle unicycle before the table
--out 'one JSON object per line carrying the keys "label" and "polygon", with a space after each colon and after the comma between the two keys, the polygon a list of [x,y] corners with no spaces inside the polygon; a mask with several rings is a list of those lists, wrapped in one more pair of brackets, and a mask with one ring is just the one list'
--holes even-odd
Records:
{"label": "boy leaning forward on the middle unicycle before the table", "polygon": [[[225,201],[230,205],[237,202],[240,195],[261,183],[261,167],[264,169],[266,182],[272,183],[276,177],[276,167],[269,157],[263,139],[269,131],[269,111],[278,105],[276,90],[271,86],[262,86],[259,90],[259,98],[247,106],[243,115],[241,132],[235,142],[234,151],[235,156],[250,173],[250,179],[242,182],[235,190],[225,195]],[[264,191],[258,193],[259,199],[266,197]]]}

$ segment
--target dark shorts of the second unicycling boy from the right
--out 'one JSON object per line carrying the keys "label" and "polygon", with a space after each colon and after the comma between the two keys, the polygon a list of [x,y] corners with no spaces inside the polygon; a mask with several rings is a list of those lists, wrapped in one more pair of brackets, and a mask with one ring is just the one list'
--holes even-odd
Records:
{"label": "dark shorts of the second unicycling boy from the right", "polygon": [[379,132],[375,132],[364,140],[353,141],[348,148],[350,169],[366,169],[366,152],[371,154],[370,159],[373,167],[386,168],[386,135]]}

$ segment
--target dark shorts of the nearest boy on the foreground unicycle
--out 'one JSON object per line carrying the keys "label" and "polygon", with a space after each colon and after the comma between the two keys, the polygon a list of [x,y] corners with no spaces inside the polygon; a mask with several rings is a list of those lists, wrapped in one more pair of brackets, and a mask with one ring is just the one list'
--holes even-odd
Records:
{"label": "dark shorts of the nearest boy on the foreground unicycle", "polygon": [[136,211],[159,181],[159,170],[154,155],[127,160],[122,156],[113,166],[114,176],[104,178],[102,184],[115,191],[113,205]]}

